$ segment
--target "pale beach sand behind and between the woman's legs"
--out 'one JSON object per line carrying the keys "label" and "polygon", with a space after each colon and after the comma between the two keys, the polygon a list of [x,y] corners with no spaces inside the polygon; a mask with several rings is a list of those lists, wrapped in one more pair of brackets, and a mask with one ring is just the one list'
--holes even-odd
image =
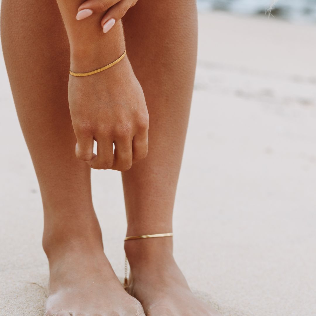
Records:
{"label": "pale beach sand behind and between the woman's legs", "polygon": [[[316,315],[315,33],[274,19],[200,15],[175,256],[225,316]],[[3,60],[0,67],[0,315],[40,316],[48,278],[40,193]],[[122,276],[120,174],[94,171],[93,196]]]}

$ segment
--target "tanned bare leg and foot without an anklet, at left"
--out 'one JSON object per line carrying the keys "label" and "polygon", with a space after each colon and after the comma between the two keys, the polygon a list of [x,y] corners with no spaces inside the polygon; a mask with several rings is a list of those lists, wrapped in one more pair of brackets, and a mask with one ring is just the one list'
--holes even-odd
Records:
{"label": "tanned bare leg and foot without an anklet, at left", "polygon": [[56,2],[3,0],[1,38],[43,200],[47,315],[143,315],[104,255],[90,168],[75,156],[67,100],[69,44]]}

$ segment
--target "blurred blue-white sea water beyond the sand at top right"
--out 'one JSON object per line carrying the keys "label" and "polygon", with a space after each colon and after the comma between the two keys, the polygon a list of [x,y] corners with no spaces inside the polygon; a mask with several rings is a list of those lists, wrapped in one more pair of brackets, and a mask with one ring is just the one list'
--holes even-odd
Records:
{"label": "blurred blue-white sea water beyond the sand at top right", "polygon": [[[264,14],[271,0],[197,0],[203,10],[224,10],[242,14]],[[316,0],[278,0],[272,14],[291,21],[316,23]]]}

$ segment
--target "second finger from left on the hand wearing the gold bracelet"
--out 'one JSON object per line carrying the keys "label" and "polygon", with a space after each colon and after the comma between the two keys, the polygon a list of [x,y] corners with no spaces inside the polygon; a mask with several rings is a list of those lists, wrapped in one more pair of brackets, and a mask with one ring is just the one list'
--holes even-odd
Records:
{"label": "second finger from left on the hand wearing the gold bracelet", "polygon": [[97,143],[97,154],[87,162],[93,169],[110,169],[113,165],[113,142]]}

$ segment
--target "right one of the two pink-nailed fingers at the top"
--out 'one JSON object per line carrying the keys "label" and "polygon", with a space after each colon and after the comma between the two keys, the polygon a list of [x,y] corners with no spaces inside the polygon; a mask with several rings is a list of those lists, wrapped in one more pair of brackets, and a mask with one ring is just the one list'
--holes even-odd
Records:
{"label": "right one of the two pink-nailed fingers at the top", "polygon": [[121,0],[107,10],[106,14],[101,20],[103,33],[108,32],[114,25],[115,21],[119,21],[125,15],[127,10],[132,6],[133,2],[134,1],[131,0]]}

